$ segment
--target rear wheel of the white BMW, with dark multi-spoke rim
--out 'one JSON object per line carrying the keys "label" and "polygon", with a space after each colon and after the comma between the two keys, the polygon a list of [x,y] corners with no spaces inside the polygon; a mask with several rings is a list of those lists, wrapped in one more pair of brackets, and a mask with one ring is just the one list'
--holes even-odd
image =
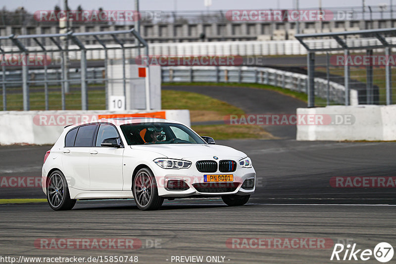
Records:
{"label": "rear wheel of the white BMW, with dark multi-spoke rim", "polygon": [[74,207],[77,200],[70,199],[66,178],[60,171],[51,173],[47,186],[47,201],[52,210],[64,211]]}

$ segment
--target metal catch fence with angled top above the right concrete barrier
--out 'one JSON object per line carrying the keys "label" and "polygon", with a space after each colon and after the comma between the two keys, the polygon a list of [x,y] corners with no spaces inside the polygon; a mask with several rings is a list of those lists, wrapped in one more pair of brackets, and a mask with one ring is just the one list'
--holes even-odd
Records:
{"label": "metal catch fence with angled top above the right concrete barrier", "polygon": [[[308,106],[324,105],[314,99],[315,77],[343,84],[345,105],[393,104],[395,36],[395,29],[296,35],[308,51]],[[357,102],[354,102],[352,94],[356,92]],[[334,95],[329,93],[326,104],[334,102]]]}

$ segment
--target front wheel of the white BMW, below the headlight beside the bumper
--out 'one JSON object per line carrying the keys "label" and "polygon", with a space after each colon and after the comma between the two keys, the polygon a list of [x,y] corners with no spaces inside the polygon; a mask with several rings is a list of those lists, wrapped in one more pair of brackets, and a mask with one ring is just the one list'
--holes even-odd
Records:
{"label": "front wheel of the white BMW, below the headlight beside the bumper", "polygon": [[157,210],[164,202],[164,198],[158,196],[157,182],[148,168],[143,168],[136,174],[132,192],[135,203],[141,210]]}

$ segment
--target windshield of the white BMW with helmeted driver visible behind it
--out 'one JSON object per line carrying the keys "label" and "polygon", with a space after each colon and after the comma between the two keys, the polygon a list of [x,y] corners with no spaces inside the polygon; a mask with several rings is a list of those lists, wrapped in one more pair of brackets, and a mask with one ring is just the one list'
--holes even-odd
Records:
{"label": "windshield of the white BMW with helmeted driver visible behind it", "polygon": [[128,145],[206,144],[191,129],[174,123],[139,123],[121,126]]}

